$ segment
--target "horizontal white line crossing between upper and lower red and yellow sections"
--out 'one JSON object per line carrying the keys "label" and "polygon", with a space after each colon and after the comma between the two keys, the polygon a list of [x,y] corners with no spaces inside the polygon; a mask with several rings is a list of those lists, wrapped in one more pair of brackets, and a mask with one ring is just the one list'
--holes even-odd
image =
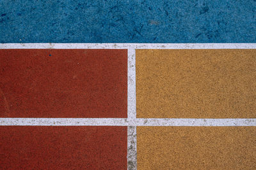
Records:
{"label": "horizontal white line crossing between upper and lower red and yellow sections", "polygon": [[256,126],[256,118],[0,118],[0,125]]}

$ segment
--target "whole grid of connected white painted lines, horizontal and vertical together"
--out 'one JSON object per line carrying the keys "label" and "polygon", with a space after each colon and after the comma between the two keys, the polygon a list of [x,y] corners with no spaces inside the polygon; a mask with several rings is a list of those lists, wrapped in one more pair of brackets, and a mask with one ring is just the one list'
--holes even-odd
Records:
{"label": "whole grid of connected white painted lines, horizontal and vertical together", "polygon": [[136,118],[135,49],[256,49],[256,43],[6,43],[0,49],[127,49],[127,118],[0,118],[0,125],[127,126],[128,169],[136,169],[137,126],[256,126],[256,118]]}

